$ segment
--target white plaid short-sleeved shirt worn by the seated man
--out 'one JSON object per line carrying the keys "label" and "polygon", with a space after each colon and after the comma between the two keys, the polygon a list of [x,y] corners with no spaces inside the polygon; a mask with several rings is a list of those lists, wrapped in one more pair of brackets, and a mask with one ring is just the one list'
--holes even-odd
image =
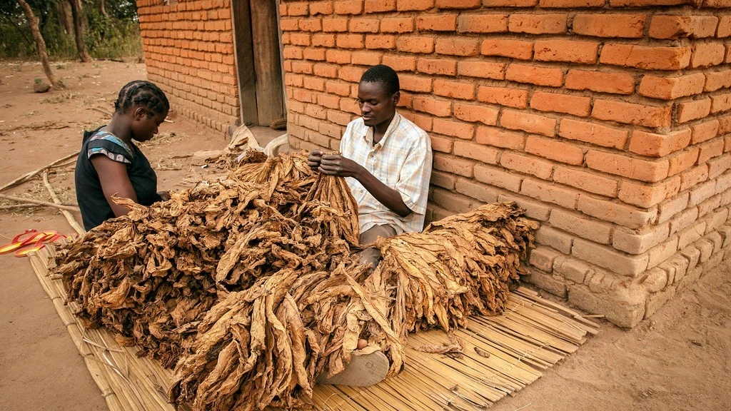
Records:
{"label": "white plaid short-sleeved shirt worn by the seated man", "polygon": [[431,140],[423,129],[395,113],[385,135],[374,145],[373,127],[359,117],[348,124],[340,142],[343,157],[366,167],[383,184],[398,191],[412,214],[398,216],[376,200],[355,178],[346,181],[358,203],[360,232],[388,224],[397,233],[420,233],[431,178]]}

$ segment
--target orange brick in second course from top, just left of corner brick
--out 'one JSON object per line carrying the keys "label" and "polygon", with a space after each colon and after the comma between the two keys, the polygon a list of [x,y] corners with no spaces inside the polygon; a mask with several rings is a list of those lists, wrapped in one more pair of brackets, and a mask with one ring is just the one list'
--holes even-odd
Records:
{"label": "orange brick in second course from top, just left of corner brick", "polygon": [[580,12],[574,16],[572,29],[584,36],[639,39],[645,35],[645,15]]}

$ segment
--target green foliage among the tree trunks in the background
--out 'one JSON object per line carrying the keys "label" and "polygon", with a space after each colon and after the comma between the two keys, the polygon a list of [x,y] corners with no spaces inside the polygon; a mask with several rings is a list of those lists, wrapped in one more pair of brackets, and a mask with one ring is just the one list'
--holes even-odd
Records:
{"label": "green foliage among the tree trunks in the background", "polygon": [[[39,19],[39,29],[53,60],[78,59],[73,32],[59,21],[58,3],[68,0],[26,0]],[[108,17],[99,12],[99,0],[83,0],[86,51],[94,59],[142,56],[142,39],[134,0],[107,0]],[[26,15],[15,0],[0,0],[0,59],[38,58]]]}

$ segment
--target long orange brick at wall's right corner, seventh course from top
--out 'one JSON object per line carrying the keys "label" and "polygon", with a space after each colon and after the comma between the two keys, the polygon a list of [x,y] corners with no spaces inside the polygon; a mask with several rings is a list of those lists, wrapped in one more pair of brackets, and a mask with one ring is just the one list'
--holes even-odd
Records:
{"label": "long orange brick at wall's right corner, seventh course from top", "polygon": [[668,170],[667,159],[651,162],[596,150],[586,153],[586,165],[605,173],[650,182],[666,178]]}

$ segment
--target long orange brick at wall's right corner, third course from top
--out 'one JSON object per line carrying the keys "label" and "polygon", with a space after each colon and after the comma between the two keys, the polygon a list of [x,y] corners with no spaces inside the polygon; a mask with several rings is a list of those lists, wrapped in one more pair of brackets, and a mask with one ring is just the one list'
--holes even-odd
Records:
{"label": "long orange brick at wall's right corner, third course from top", "polygon": [[602,48],[599,63],[648,70],[678,70],[689,66],[690,57],[691,49],[687,47],[608,44]]}

